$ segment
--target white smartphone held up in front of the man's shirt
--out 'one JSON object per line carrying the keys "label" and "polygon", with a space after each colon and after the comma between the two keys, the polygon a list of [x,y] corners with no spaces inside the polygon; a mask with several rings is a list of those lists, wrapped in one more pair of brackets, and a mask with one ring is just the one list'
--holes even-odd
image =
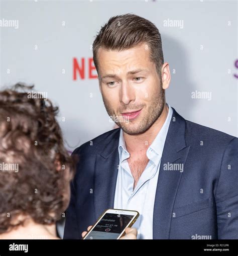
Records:
{"label": "white smartphone held up in front of the man's shirt", "polygon": [[126,227],[132,227],[138,217],[138,211],[107,209],[83,239],[119,239],[125,234]]}

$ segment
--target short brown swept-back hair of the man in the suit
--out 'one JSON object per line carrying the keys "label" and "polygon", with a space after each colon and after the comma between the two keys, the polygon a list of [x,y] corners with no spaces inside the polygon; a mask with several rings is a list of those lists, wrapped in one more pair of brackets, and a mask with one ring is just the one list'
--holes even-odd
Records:
{"label": "short brown swept-back hair of the man in the suit", "polygon": [[164,57],[158,28],[152,22],[134,14],[111,17],[101,27],[92,45],[93,61],[97,73],[97,50],[99,47],[122,51],[143,43],[148,43],[151,50],[151,60],[156,64],[157,72],[160,74]]}

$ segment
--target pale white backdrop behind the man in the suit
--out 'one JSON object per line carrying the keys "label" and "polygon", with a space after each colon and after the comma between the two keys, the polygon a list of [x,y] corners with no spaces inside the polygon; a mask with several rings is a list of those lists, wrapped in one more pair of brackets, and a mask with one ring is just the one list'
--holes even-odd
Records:
{"label": "pale white backdrop behind the man in the suit", "polygon": [[[1,85],[23,81],[47,93],[60,107],[70,151],[113,127],[88,65],[96,32],[125,13],[161,32],[172,73],[167,102],[188,120],[238,135],[236,1],[1,1],[0,7]],[[73,79],[73,58],[80,69],[84,60],[84,78],[77,72]]]}

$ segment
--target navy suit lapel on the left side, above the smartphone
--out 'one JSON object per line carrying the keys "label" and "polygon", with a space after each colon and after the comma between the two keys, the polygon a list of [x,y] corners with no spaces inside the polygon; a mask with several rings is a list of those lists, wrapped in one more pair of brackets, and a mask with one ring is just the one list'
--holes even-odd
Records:
{"label": "navy suit lapel on the left side, above the smartphone", "polygon": [[107,138],[105,147],[96,155],[94,175],[94,207],[97,219],[106,209],[113,208],[119,164],[118,142],[120,129]]}

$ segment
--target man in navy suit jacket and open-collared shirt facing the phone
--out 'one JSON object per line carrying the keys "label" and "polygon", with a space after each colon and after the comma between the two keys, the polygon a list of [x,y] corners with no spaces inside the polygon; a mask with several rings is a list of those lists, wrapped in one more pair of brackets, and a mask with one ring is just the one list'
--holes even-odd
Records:
{"label": "man in navy suit jacket and open-collared shirt facing the phone", "polygon": [[139,239],[238,238],[238,140],[166,104],[170,70],[156,26],[132,14],[110,18],[93,59],[120,128],[75,149],[64,238],[80,239],[107,208],[139,211]]}

